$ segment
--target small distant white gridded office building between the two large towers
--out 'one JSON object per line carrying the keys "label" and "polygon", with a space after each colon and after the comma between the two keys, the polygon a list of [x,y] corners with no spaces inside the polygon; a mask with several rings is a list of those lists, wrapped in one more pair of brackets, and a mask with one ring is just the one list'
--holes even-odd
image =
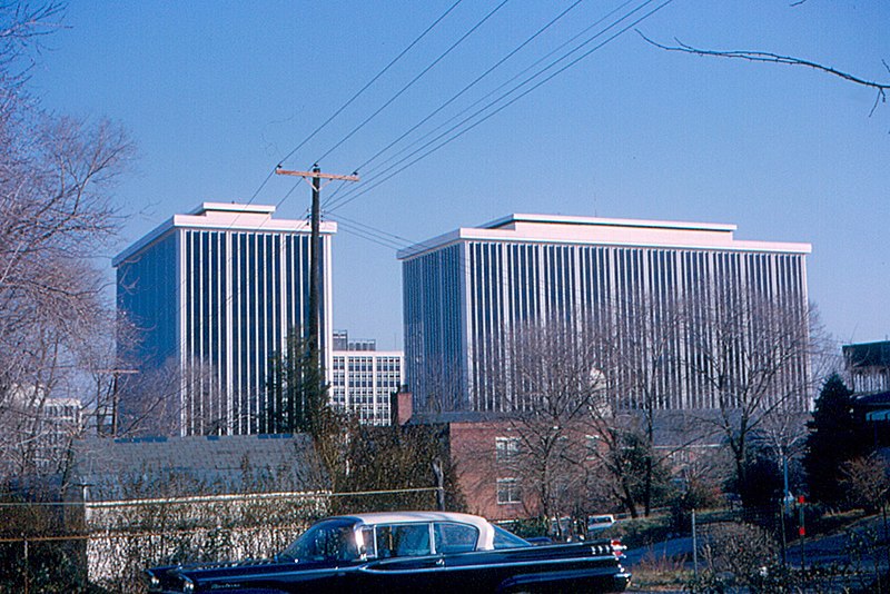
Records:
{"label": "small distant white gridded office building between the two large towers", "polygon": [[347,344],[348,349],[334,352],[332,404],[358,415],[363,424],[388,425],[392,395],[405,383],[404,354],[376,350],[376,340]]}

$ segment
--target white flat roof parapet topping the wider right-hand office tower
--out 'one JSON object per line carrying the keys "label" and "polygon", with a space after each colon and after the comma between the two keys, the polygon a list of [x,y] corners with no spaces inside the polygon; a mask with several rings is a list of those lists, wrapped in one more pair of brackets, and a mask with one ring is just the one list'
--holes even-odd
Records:
{"label": "white flat roof parapet topping the wider right-hand office tower", "polygon": [[508,215],[481,227],[462,227],[397,254],[409,259],[462,240],[589,244],[603,246],[664,247],[810,254],[801,242],[749,241],[733,238],[735,225],[635,219],[566,217],[561,215]]}

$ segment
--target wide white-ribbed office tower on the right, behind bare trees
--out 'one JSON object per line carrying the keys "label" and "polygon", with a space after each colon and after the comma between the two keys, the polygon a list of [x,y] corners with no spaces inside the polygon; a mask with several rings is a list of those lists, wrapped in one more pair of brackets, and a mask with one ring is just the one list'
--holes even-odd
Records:
{"label": "wide white-ribbed office tower on the right, behind bare trees", "polygon": [[[650,355],[656,340],[669,345],[660,358],[655,407],[716,408],[715,382],[693,373],[706,357],[695,349],[719,346],[716,337],[728,334],[723,320],[734,314],[735,343],[723,344],[721,356],[724,379],[741,380],[741,349],[759,353],[754,335],[745,333],[775,317],[762,314],[780,310],[800,320],[808,308],[810,245],[738,240],[734,230],[734,225],[511,215],[399,251],[414,410],[530,409],[516,400],[515,388],[511,392],[518,380],[511,376],[516,352],[510,341],[534,324],[562,324],[582,341],[614,333],[604,348],[615,347],[616,356],[630,350],[629,328],[645,327],[635,336],[637,343],[649,340],[643,348]],[[681,314],[682,325],[669,325]],[[798,325],[792,334],[787,341],[802,344],[809,330]],[[761,352],[765,355],[765,347]],[[804,352],[794,353],[771,379],[782,384],[777,394],[797,390],[795,402],[788,403],[797,408],[810,402],[801,389],[810,374]],[[594,365],[591,382],[603,372]],[[629,393],[617,394],[612,406],[642,407]]]}

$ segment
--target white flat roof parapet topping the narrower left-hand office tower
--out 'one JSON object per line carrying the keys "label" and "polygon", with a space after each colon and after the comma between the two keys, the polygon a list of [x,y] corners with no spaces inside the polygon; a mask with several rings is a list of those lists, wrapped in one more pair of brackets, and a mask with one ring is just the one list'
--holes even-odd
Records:
{"label": "white flat roof parapet topping the narrower left-hand office tower", "polygon": [[[122,261],[138,254],[150,244],[175,228],[217,229],[238,231],[310,231],[308,220],[275,219],[275,207],[270,205],[245,205],[238,202],[202,202],[188,215],[174,215],[155,229],[142,236],[118,254],[111,266],[117,268]],[[337,232],[337,224],[323,220],[319,230],[323,235]]]}

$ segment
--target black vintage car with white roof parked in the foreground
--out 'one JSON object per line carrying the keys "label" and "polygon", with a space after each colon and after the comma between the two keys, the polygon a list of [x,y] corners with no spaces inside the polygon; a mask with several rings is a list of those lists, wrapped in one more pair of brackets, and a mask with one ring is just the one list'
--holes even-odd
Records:
{"label": "black vintage car with white roof parked in the foreground", "polygon": [[486,519],[445,512],[323,519],[274,560],[148,570],[149,592],[619,592],[617,541],[533,546]]}

